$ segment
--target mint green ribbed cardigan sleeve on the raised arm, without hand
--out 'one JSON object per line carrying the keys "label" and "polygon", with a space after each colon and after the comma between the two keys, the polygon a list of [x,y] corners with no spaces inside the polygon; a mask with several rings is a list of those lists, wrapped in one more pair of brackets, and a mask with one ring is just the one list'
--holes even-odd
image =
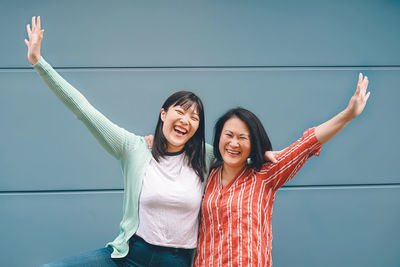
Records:
{"label": "mint green ribbed cardigan sleeve on the raised arm, without hand", "polygon": [[[51,91],[85,126],[97,141],[115,158],[120,159],[129,149],[129,135],[95,109],[87,99],[61,77],[42,57],[33,66]],[[134,136],[134,135],[133,135]],[[132,136],[131,136],[132,137]],[[134,136],[136,137],[136,136]],[[134,138],[133,140],[138,139]]]}

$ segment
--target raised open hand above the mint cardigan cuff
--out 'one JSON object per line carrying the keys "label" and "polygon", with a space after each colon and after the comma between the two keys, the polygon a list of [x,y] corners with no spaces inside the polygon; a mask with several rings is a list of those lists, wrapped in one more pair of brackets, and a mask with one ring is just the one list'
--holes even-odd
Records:
{"label": "raised open hand above the mint cardigan cuff", "polygon": [[31,25],[26,25],[26,31],[28,32],[29,41],[25,39],[25,44],[28,47],[28,60],[34,65],[40,59],[40,45],[43,39],[43,32],[40,28],[40,16],[32,17],[32,29]]}

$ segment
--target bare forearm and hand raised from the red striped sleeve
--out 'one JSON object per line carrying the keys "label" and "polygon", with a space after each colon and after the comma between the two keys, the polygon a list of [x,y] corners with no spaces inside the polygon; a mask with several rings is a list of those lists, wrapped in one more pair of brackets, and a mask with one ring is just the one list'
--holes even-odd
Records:
{"label": "bare forearm and hand raised from the red striped sleeve", "polygon": [[340,132],[352,119],[362,113],[370,96],[370,92],[367,93],[367,88],[368,77],[363,77],[362,73],[360,73],[356,92],[351,97],[346,109],[315,128],[315,136],[321,144],[332,139],[332,137]]}

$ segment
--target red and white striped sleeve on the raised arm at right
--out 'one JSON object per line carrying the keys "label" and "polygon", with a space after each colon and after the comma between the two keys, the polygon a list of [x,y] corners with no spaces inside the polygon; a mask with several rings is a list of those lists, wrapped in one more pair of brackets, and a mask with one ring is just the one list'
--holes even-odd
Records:
{"label": "red and white striped sleeve on the raised arm at right", "polygon": [[272,182],[273,188],[278,190],[296,175],[311,156],[319,156],[321,147],[315,128],[308,129],[300,139],[282,150],[277,156],[277,164],[264,164],[259,175]]}

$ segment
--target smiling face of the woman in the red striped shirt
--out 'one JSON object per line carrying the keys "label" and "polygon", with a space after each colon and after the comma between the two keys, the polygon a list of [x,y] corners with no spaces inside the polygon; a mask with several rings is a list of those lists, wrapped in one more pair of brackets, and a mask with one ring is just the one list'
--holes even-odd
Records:
{"label": "smiling face of the woman in the red striped shirt", "polygon": [[224,168],[242,169],[251,152],[250,131],[239,118],[232,117],[222,128],[219,152],[224,160]]}

